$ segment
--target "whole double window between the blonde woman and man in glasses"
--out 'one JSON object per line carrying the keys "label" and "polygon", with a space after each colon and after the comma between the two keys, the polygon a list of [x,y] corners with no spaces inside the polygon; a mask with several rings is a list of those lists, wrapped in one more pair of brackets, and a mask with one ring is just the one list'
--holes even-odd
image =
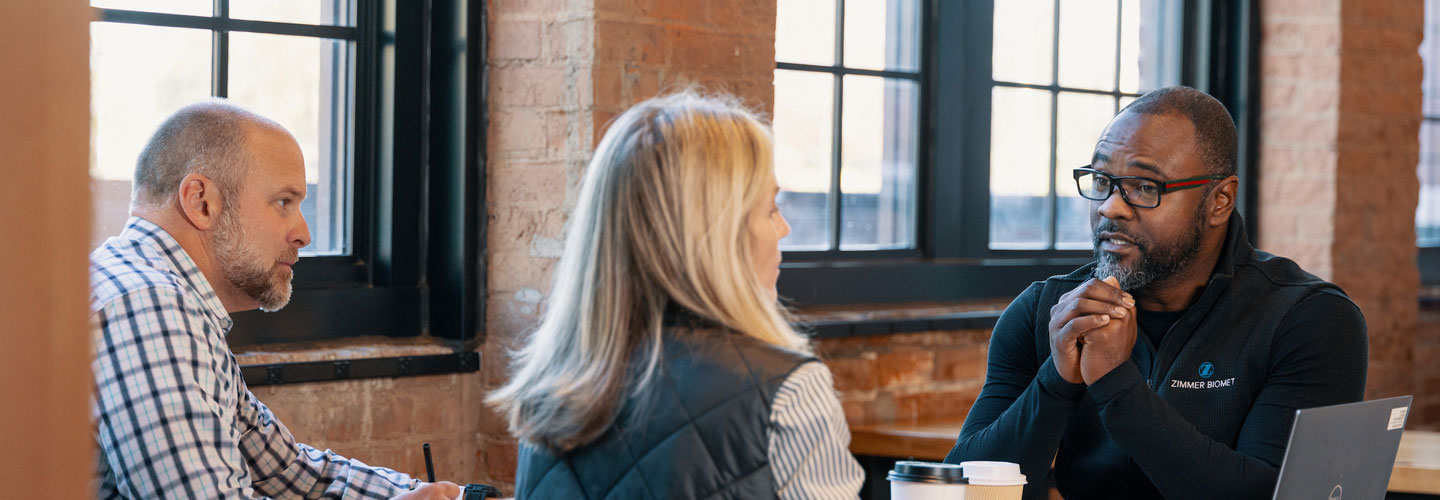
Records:
{"label": "whole double window between the blonde woman and man in glasses", "polygon": [[776,176],[792,226],[780,294],[1012,297],[1083,265],[1089,205],[1070,170],[1152,88],[1225,102],[1246,180],[1256,7],[779,0]]}

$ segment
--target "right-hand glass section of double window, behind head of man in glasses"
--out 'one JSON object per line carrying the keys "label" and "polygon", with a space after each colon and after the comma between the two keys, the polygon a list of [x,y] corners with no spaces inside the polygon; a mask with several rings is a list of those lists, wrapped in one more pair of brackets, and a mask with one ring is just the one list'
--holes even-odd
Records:
{"label": "right-hand glass section of double window, behind head of man in glasses", "polygon": [[1070,170],[1090,163],[1122,107],[1178,81],[1178,66],[1165,65],[1179,36],[1164,24],[1166,9],[1178,4],[995,3],[989,248],[1092,246],[1089,203]]}

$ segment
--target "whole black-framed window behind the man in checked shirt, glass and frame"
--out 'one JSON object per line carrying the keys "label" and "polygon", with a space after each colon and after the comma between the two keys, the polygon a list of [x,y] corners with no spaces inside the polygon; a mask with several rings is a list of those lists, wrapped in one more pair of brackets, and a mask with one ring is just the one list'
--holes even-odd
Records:
{"label": "whole black-framed window behind the man in checked shirt, glass and frame", "polygon": [[312,238],[291,304],[235,314],[232,344],[469,339],[484,317],[484,190],[465,174],[484,171],[471,3],[91,0],[95,244],[124,225],[160,121],[226,97],[295,135]]}

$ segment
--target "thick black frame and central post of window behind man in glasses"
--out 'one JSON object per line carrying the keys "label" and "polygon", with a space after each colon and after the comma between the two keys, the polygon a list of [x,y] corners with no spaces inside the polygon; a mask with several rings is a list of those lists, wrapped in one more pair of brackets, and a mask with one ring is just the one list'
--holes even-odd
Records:
{"label": "thick black frame and central post of window behind man in glasses", "polygon": [[[1236,118],[1238,209],[1253,238],[1259,231],[1259,3],[1185,1],[1182,16],[1179,84],[1210,92]],[[785,252],[779,293],[792,305],[1014,297],[1032,281],[1092,261],[1090,251],[989,248],[992,23],[994,0],[926,0],[922,6],[916,251]]]}

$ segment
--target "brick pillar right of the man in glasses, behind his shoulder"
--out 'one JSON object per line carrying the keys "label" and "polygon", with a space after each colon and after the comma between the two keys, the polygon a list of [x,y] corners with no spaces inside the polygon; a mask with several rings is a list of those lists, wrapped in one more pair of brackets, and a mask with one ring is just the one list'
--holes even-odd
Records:
{"label": "brick pillar right of the man in glasses, behind his shoulder", "polygon": [[[1365,311],[1368,398],[1413,393],[1424,4],[1261,3],[1260,246]],[[1436,375],[1428,375],[1434,378]],[[1440,393],[1417,393],[1417,422]]]}

